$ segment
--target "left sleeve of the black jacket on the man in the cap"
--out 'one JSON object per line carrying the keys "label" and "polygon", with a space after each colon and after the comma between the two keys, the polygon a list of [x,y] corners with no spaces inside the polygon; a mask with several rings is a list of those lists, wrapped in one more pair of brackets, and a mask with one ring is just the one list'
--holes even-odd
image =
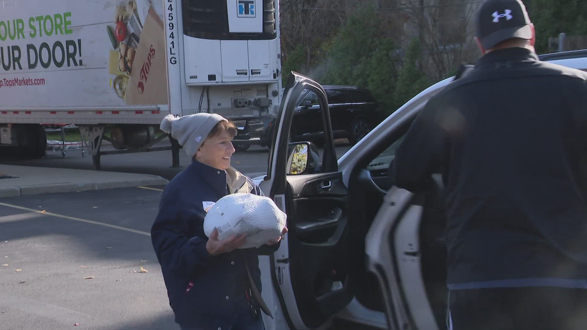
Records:
{"label": "left sleeve of the black jacket on the man in the cap", "polygon": [[397,148],[390,176],[397,187],[417,193],[433,187],[448,153],[448,135],[440,125],[442,109],[433,97],[424,106]]}

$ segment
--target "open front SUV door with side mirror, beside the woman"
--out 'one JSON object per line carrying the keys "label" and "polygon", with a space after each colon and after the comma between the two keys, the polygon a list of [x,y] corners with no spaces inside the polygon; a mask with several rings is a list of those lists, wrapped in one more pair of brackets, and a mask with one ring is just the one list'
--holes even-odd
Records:
{"label": "open front SUV door with side mirror, beside the woman", "polygon": [[[312,144],[289,143],[296,100],[308,90],[318,96],[324,132],[322,155]],[[348,189],[338,170],[328,100],[321,85],[292,73],[274,139],[268,175],[259,185],[266,194],[270,191],[268,195],[287,213],[289,232],[270,258],[272,283],[288,327],[315,329],[353,298],[349,288],[352,262],[348,252],[353,240]],[[293,154],[296,150],[305,151],[305,156]],[[296,161],[304,164],[292,170]]]}

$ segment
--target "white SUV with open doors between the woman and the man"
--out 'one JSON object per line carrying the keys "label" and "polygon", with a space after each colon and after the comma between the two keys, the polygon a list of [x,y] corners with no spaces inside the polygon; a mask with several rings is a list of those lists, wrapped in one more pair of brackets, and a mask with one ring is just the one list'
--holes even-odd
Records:
{"label": "white SUV with open doors between the woman and the man", "polygon": [[[587,50],[541,58],[587,69]],[[454,79],[413,97],[337,161],[324,89],[291,75],[268,174],[258,180],[288,214],[289,227],[279,250],[259,257],[263,297],[274,315],[264,315],[266,329],[447,328],[443,202],[394,187],[387,171],[411,120]],[[322,110],[321,160],[305,143],[288,144],[295,102],[307,90]],[[298,174],[290,174],[292,163]]]}

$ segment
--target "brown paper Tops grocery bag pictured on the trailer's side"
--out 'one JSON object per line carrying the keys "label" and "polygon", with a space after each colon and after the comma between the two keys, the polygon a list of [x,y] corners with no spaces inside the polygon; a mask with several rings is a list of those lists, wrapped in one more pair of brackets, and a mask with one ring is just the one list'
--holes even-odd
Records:
{"label": "brown paper Tops grocery bag pictured on the trailer's side", "polygon": [[151,6],[143,25],[129,84],[126,87],[124,100],[127,105],[168,103],[165,51],[163,21]]}

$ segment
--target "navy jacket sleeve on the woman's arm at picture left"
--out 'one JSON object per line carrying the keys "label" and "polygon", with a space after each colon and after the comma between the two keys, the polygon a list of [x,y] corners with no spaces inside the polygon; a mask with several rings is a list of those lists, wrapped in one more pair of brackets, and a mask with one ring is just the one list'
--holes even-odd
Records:
{"label": "navy jacket sleeve on the woman's arm at picture left", "polygon": [[207,239],[187,237],[189,212],[181,208],[180,198],[164,194],[159,213],[151,227],[151,241],[162,268],[189,275],[210,262]]}

